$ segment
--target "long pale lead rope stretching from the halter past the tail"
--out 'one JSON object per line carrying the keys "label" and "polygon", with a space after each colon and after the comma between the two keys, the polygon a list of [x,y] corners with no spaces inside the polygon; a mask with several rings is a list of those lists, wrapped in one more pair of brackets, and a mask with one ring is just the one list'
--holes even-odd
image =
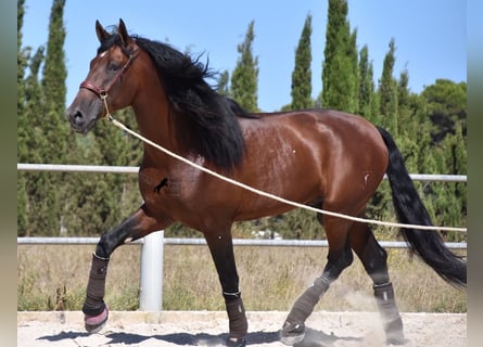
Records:
{"label": "long pale lead rope stretching from the halter past the tail", "polygon": [[[104,102],[105,102],[105,100],[104,100]],[[107,105],[105,105],[105,106],[107,106]],[[212,171],[212,170],[209,170],[209,169],[207,169],[207,168],[205,168],[205,167],[203,167],[201,165],[198,165],[198,164],[195,164],[195,163],[193,163],[193,162],[191,162],[191,160],[189,160],[189,159],[187,159],[187,158],[185,158],[185,157],[182,157],[182,156],[180,156],[180,155],[178,155],[176,153],[173,153],[171,151],[169,151],[169,150],[158,145],[157,143],[154,143],[153,141],[142,137],[141,134],[137,133],[136,131],[132,131],[131,129],[127,128],[124,124],[122,124],[122,123],[119,123],[119,121],[117,121],[116,119],[113,118],[113,116],[109,112],[107,107],[106,107],[106,111],[107,111],[107,115],[106,116],[107,116],[107,119],[110,121],[112,121],[116,127],[118,127],[118,128],[123,129],[124,131],[132,134],[134,137],[140,139],[141,141],[152,145],[153,147],[155,147],[155,149],[166,153],[167,155],[169,155],[169,156],[171,156],[171,157],[174,157],[174,158],[176,158],[178,160],[181,160],[181,162],[183,162],[183,163],[186,163],[188,165],[191,165],[192,167],[195,167],[196,169],[199,169],[199,170],[201,170],[203,172],[212,175],[212,176],[214,176],[214,177],[216,177],[216,178],[218,178],[218,179],[220,179],[220,180],[223,180],[225,182],[228,182],[228,183],[231,183],[233,185],[240,187],[242,189],[251,191],[252,193],[258,194],[260,196],[269,197],[269,198],[276,200],[276,201],[280,202],[280,203],[283,203],[283,204],[287,204],[287,205],[291,205],[291,206],[294,206],[294,207],[305,208],[305,209],[308,209],[308,210],[312,210],[312,211],[315,211],[315,213],[318,213],[318,214],[333,216],[333,217],[339,217],[339,218],[342,218],[342,219],[348,219],[348,220],[353,220],[353,221],[357,221],[357,222],[364,222],[364,223],[370,223],[370,224],[377,224],[377,226],[385,226],[385,227],[394,227],[394,228],[406,228],[406,229],[445,230],[445,231],[467,232],[467,228],[416,226],[416,224],[394,223],[394,222],[385,222],[385,221],[380,221],[380,220],[358,218],[358,217],[353,217],[353,216],[347,216],[347,215],[343,215],[343,214],[333,213],[333,211],[330,211],[330,210],[315,208],[315,207],[312,207],[312,206],[307,206],[307,205],[304,205],[304,204],[292,202],[290,200],[285,200],[283,197],[280,197],[280,196],[277,196],[277,195],[274,195],[274,194],[270,194],[270,193],[257,190],[257,189],[255,189],[253,187],[250,187],[250,185],[243,184],[243,183],[241,183],[239,181],[232,180],[232,179],[230,179],[228,177],[225,177],[225,176],[219,175],[219,174],[217,174],[215,171]]]}

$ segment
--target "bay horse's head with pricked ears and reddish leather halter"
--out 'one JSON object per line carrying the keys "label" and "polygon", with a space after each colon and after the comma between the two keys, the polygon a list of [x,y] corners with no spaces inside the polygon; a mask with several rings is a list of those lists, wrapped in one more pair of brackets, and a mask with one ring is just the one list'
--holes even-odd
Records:
{"label": "bay horse's head with pricked ears and reddish leather halter", "polygon": [[131,67],[139,53],[135,40],[127,34],[126,25],[119,20],[116,33],[107,33],[99,21],[96,31],[101,42],[98,55],[90,63],[90,70],[66,115],[71,127],[87,133],[96,120],[131,104],[136,74]]}

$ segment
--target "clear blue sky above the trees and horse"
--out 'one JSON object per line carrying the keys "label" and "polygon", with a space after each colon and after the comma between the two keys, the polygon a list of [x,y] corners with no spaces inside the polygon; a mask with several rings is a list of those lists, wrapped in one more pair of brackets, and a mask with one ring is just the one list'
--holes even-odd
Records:
{"label": "clear blue sky above the trees and horse", "polygon": [[[25,1],[23,47],[47,44],[51,1]],[[251,21],[253,54],[258,56],[258,107],[280,110],[291,102],[295,49],[307,14],[313,15],[313,98],[320,93],[328,0],[66,0],[64,52],[67,104],[88,73],[99,42],[94,23],[126,23],[129,34],[168,42],[180,51],[203,53],[214,70],[233,70]],[[382,74],[394,38],[394,77],[409,73],[409,89],[419,93],[437,78],[467,80],[467,7],[462,0],[348,0],[351,29],[357,47],[369,49],[374,82]],[[213,81],[214,82],[214,81]]]}

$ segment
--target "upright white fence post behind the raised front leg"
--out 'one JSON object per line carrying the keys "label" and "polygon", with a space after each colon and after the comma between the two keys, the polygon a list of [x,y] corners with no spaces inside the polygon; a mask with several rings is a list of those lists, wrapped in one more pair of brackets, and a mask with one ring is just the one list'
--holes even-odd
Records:
{"label": "upright white fence post behind the raised front leg", "polygon": [[139,309],[161,311],[163,306],[164,230],[144,236],[141,246]]}

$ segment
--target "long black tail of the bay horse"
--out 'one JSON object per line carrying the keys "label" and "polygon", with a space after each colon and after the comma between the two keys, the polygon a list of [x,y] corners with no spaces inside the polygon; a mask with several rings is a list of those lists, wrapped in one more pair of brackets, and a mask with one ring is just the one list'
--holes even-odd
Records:
{"label": "long black tail of the bay horse", "polygon": [[[378,129],[389,150],[386,175],[399,222],[432,226],[428,210],[407,172],[403,155],[391,134],[384,129],[379,127]],[[455,286],[466,287],[467,264],[446,247],[437,231],[418,229],[402,229],[401,231],[412,252],[433,268],[438,275]]]}

